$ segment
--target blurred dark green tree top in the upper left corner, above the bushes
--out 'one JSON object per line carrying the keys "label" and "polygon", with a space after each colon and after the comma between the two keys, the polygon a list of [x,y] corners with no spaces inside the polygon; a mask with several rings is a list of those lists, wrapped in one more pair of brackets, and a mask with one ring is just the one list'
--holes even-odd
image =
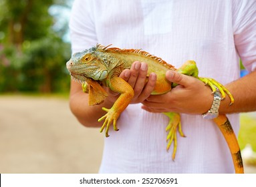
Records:
{"label": "blurred dark green tree top in the upper left corner, above the bushes", "polygon": [[53,0],[1,0],[0,28],[5,44],[21,47],[23,41],[44,37],[53,24],[48,9]]}

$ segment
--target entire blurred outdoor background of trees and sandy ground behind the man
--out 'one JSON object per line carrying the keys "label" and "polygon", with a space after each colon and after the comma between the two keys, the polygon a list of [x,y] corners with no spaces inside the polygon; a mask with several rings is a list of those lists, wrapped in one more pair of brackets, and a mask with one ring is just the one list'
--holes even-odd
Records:
{"label": "entire blurred outdoor background of trees and sandy ground behind the man", "polygon": [[[0,0],[0,173],[98,172],[104,136],[68,106],[72,3]],[[256,173],[255,112],[241,114],[239,144]]]}

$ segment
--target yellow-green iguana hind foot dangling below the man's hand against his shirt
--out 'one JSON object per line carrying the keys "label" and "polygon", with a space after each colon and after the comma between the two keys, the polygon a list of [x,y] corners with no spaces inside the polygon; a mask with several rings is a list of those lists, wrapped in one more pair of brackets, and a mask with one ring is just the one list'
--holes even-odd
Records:
{"label": "yellow-green iguana hind foot dangling below the man's hand against his shirt", "polygon": [[166,137],[166,142],[168,142],[166,150],[170,149],[172,142],[174,142],[173,151],[172,151],[172,160],[175,159],[176,150],[177,150],[177,136],[176,132],[180,133],[180,136],[185,137],[180,124],[180,114],[174,112],[164,112],[166,116],[170,119],[168,126],[166,127],[166,132],[168,132]]}

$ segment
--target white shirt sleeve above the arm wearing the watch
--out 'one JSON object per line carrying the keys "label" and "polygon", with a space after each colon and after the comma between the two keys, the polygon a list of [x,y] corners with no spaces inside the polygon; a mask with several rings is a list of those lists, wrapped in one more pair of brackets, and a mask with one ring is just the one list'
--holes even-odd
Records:
{"label": "white shirt sleeve above the arm wearing the watch", "polygon": [[233,5],[235,46],[243,65],[251,72],[256,70],[256,1],[235,1]]}

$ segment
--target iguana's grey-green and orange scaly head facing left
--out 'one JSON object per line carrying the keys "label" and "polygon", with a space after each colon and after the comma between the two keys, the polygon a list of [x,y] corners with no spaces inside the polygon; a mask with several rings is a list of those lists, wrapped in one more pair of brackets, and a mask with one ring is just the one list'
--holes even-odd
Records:
{"label": "iguana's grey-green and orange scaly head facing left", "polygon": [[80,81],[86,81],[88,78],[103,80],[108,76],[106,65],[98,55],[97,47],[86,49],[75,53],[66,63],[70,75]]}

